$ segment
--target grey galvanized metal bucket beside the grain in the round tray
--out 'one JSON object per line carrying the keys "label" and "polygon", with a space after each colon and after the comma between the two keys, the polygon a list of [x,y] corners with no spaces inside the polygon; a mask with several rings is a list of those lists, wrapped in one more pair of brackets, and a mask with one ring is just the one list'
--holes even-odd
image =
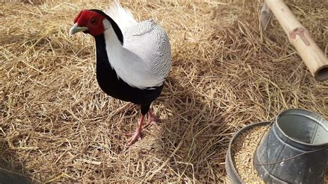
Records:
{"label": "grey galvanized metal bucket beside the grain in the round tray", "polygon": [[303,109],[280,113],[255,151],[254,166],[266,183],[324,183],[328,122]]}

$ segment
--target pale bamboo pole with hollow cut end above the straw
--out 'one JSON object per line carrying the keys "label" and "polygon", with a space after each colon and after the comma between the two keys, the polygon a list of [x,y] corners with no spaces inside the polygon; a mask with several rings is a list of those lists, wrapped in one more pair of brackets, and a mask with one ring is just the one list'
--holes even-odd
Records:
{"label": "pale bamboo pole with hollow cut end above the straw", "polygon": [[328,59],[313,41],[309,31],[300,24],[283,0],[265,0],[265,3],[279,21],[289,42],[296,48],[313,77],[318,81],[328,80]]}

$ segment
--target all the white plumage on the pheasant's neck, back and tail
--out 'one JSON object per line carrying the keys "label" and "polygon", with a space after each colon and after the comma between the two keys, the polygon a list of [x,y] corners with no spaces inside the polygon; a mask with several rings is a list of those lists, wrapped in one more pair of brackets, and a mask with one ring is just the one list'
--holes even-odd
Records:
{"label": "all the white plumage on the pheasant's neck, back and tail", "polygon": [[137,22],[118,1],[107,12],[120,27],[120,44],[109,21],[104,20],[107,55],[118,77],[130,86],[161,86],[171,68],[171,48],[165,30],[153,20]]}

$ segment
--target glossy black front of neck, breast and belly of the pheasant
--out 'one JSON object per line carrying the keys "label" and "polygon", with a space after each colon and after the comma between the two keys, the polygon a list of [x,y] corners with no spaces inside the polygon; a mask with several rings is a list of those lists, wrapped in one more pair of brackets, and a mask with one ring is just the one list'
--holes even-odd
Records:
{"label": "glossy black front of neck, breast and belly of the pheasant", "polygon": [[104,93],[134,104],[151,104],[161,94],[163,85],[152,87],[152,89],[150,86],[149,89],[138,89],[118,79],[116,71],[109,64],[104,35],[95,37],[95,48],[97,53],[97,81]]}

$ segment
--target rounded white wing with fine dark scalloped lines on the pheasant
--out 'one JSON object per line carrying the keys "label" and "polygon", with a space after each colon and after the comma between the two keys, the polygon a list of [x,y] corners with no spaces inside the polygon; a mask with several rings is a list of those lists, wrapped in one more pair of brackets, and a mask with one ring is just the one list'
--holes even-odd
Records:
{"label": "rounded white wing with fine dark scalloped lines on the pheasant", "polygon": [[171,68],[171,48],[165,30],[153,21],[127,27],[125,48],[143,59],[153,77],[165,80]]}

